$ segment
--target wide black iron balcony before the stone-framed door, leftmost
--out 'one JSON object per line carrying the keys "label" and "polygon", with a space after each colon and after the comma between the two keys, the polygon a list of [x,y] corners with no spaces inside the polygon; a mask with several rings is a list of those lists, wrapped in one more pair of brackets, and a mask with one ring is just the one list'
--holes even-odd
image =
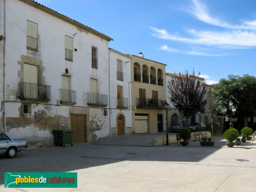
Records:
{"label": "wide black iron balcony before the stone-framed door, leftmost", "polygon": [[51,86],[35,83],[19,83],[20,100],[49,102]]}

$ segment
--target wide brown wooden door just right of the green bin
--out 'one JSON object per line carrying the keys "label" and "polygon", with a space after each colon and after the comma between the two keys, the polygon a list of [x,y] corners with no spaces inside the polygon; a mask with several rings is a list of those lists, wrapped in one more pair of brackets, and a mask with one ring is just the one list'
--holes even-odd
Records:
{"label": "wide brown wooden door just right of the green bin", "polygon": [[86,142],[86,116],[71,114],[71,129],[73,130],[73,143]]}

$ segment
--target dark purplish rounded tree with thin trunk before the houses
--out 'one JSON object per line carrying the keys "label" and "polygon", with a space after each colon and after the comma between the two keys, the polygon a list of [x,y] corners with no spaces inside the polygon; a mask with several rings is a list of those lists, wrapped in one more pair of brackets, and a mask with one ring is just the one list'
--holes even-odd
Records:
{"label": "dark purplish rounded tree with thin trunk before the houses", "polygon": [[195,76],[193,70],[192,75],[188,70],[185,74],[174,74],[172,81],[168,82],[167,90],[171,94],[169,97],[173,105],[186,116],[186,125],[188,126],[188,118],[195,116],[196,113],[204,113],[206,100],[204,95],[206,93],[205,81],[200,84],[199,75]]}

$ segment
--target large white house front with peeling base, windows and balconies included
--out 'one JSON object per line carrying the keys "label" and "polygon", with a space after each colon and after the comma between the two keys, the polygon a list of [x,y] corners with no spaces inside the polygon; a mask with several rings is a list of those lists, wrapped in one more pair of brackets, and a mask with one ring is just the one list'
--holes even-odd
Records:
{"label": "large white house front with peeling base, windows and balconies included", "polygon": [[113,39],[35,1],[0,7],[1,131],[36,146],[53,145],[53,130],[72,129],[73,143],[108,137]]}

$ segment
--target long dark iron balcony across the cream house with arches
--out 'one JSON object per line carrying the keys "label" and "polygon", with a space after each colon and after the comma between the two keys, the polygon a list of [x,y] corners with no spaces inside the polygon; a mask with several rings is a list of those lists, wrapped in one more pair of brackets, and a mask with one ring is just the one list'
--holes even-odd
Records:
{"label": "long dark iron balcony across the cream house with arches", "polygon": [[153,109],[164,109],[164,104],[166,100],[157,100],[157,99],[137,99],[137,108],[153,108]]}

